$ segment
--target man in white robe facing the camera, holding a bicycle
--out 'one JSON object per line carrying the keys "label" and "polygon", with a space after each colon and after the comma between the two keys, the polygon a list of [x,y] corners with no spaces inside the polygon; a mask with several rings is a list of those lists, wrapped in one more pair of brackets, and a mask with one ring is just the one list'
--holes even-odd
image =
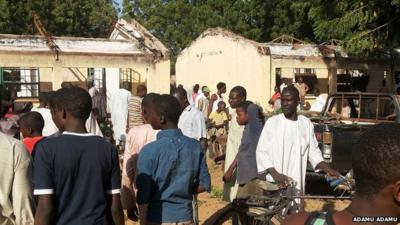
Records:
{"label": "man in white robe facing the camera, holding a bicycle", "polygon": [[294,194],[304,194],[307,161],[314,169],[320,169],[330,176],[340,173],[324,162],[311,121],[297,115],[300,101],[298,90],[289,86],[283,90],[282,111],[267,120],[261,133],[257,150],[257,169],[267,172],[267,181],[286,185],[289,178],[296,181]]}

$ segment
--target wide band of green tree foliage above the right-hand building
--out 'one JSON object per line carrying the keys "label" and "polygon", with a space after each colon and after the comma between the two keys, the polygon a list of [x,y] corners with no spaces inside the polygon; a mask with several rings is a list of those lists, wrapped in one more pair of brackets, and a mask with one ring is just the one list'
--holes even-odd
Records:
{"label": "wide band of green tree foliage above the right-hand building", "polygon": [[123,15],[149,28],[173,57],[217,26],[259,42],[282,34],[315,43],[338,39],[354,55],[400,40],[400,0],[124,0],[123,6]]}

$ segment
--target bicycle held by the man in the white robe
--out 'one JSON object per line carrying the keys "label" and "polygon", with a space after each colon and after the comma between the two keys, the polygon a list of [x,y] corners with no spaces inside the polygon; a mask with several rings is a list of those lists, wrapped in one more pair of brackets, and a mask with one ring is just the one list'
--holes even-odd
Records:
{"label": "bicycle held by the man in the white robe", "polygon": [[[328,181],[335,189],[343,190],[343,193],[340,196],[295,196],[289,193],[296,186],[295,182],[291,182],[285,188],[265,190],[264,196],[252,195],[245,199],[234,199],[231,204],[207,219],[204,225],[231,224],[230,221],[238,221],[240,225],[279,225],[286,216],[300,211],[296,199],[352,199],[354,180],[351,177],[343,176]],[[344,196],[345,193],[350,196]]]}

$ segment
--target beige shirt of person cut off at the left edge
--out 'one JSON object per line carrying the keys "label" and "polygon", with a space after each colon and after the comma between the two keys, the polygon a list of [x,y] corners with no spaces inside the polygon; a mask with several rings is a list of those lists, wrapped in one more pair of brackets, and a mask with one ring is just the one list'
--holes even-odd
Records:
{"label": "beige shirt of person cut off at the left edge", "polygon": [[32,158],[24,144],[0,132],[0,224],[33,225]]}

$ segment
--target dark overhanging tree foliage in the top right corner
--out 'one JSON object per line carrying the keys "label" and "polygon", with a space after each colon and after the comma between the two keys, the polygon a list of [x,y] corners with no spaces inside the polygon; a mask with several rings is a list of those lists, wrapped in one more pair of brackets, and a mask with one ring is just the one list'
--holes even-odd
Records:
{"label": "dark overhanging tree foliage in the top right corner", "polygon": [[399,0],[317,0],[309,17],[319,41],[341,40],[350,54],[362,56],[399,46],[399,13]]}

